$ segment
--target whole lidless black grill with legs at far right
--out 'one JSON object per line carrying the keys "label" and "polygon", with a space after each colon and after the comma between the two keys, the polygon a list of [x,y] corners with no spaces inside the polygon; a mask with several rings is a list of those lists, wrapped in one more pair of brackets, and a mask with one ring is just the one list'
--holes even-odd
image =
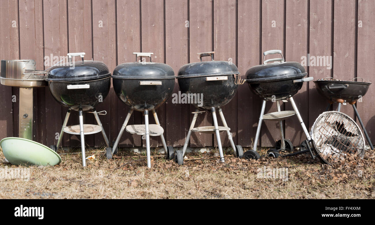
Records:
{"label": "whole lidless black grill with legs at far right", "polygon": [[[354,81],[358,79],[362,80]],[[359,98],[365,96],[371,83],[363,82],[362,77],[356,77],[348,81],[336,80],[332,77],[326,77],[321,80],[315,80],[314,83],[318,92],[330,101],[330,103],[327,105],[326,111],[329,111],[329,108],[333,102],[338,103],[338,112],[340,112],[341,110],[341,104],[346,105],[347,103],[349,103],[350,105],[352,105],[358,121],[361,124],[363,133],[365,133],[370,148],[374,150],[374,146],[372,145],[371,139],[366,131],[365,126],[363,125],[362,119],[359,116],[357,107],[355,105]]]}

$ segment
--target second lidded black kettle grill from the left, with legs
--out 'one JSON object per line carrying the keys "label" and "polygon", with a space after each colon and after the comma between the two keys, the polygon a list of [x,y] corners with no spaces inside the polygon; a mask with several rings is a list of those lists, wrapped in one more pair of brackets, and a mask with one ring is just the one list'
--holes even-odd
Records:
{"label": "second lidded black kettle grill from the left, with legs", "polygon": [[[164,130],[160,126],[156,109],[171,97],[174,88],[174,71],[172,67],[151,60],[153,53],[134,52],[135,60],[138,57],[149,57],[150,62],[135,61],[118,65],[113,71],[113,89],[127,106],[130,107],[125,121],[118,133],[113,148],[107,148],[107,158],[117,152],[118,142],[126,130],[129,133],[145,135],[147,147],[147,167],[151,167],[150,136],[160,136],[165,152],[172,147],[167,147],[163,136]],[[145,124],[127,125],[133,111],[144,113]],[[148,112],[152,111],[156,124],[148,124]]]}

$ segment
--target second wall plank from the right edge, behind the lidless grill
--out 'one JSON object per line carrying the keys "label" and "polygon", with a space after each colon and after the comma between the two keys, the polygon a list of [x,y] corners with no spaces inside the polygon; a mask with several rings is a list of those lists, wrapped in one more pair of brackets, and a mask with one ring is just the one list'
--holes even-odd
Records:
{"label": "second wall plank from the right edge, behind the lidless grill", "polygon": [[[333,78],[349,80],[355,77],[356,1],[335,0],[333,32]],[[343,38],[345,37],[345,41]],[[337,109],[335,104],[334,110]],[[353,109],[343,105],[341,112],[354,118]]]}

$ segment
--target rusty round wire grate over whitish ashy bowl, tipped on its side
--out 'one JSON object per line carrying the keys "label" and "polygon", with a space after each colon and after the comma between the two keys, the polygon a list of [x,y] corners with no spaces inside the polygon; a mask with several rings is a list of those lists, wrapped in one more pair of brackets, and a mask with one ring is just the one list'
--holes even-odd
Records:
{"label": "rusty round wire grate over whitish ashy bowl, tipped on its side", "polygon": [[348,115],[329,111],[319,115],[312,125],[315,151],[324,163],[332,164],[348,155],[363,157],[366,146],[357,123]]}

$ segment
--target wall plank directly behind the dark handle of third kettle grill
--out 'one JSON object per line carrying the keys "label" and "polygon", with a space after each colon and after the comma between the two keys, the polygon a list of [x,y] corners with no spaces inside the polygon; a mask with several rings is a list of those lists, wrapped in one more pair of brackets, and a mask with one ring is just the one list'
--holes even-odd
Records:
{"label": "wall plank directly behind the dark handle of third kettle grill", "polygon": [[[190,24],[190,63],[198,62],[196,53],[213,51],[213,1],[189,1],[189,24]],[[209,57],[202,58],[203,61],[211,60]],[[190,106],[190,111],[195,108]],[[190,115],[190,121],[192,119]],[[199,114],[195,127],[213,126],[211,112]],[[213,135],[193,132],[190,138],[190,147],[212,146]]]}

